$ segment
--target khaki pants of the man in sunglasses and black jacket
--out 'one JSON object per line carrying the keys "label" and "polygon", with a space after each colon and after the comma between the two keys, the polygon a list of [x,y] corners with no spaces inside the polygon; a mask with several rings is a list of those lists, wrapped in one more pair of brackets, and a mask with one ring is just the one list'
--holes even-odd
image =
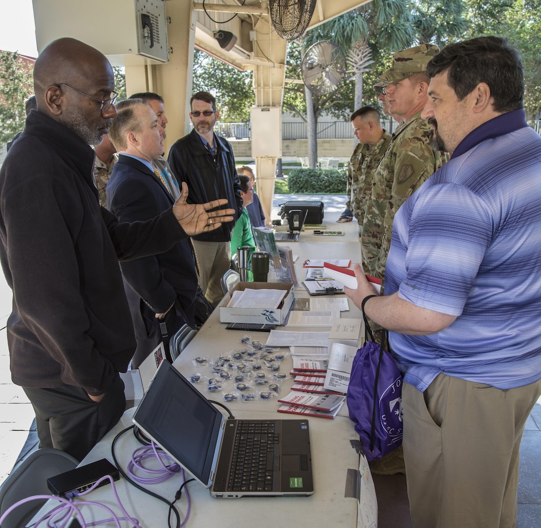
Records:
{"label": "khaki pants of the man in sunglasses and black jacket", "polygon": [[199,268],[199,285],[204,296],[216,306],[224,295],[220,280],[231,265],[231,245],[229,242],[200,242],[193,239],[192,244]]}

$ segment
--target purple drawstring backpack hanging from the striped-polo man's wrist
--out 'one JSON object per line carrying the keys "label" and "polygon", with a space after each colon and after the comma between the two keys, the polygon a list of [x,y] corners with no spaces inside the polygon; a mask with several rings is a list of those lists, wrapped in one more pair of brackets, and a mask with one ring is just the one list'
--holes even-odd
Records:
{"label": "purple drawstring backpack hanging from the striped-polo man's wrist", "polygon": [[370,461],[402,445],[402,375],[391,353],[385,350],[387,330],[381,344],[375,343],[364,309],[362,317],[365,344],[357,350],[352,363],[346,403]]}

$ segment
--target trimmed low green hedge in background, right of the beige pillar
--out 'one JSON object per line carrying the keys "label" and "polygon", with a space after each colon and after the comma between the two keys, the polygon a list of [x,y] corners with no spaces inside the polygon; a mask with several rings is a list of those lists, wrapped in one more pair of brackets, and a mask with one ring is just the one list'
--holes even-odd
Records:
{"label": "trimmed low green hedge in background, right of the beige pillar", "polygon": [[334,168],[296,168],[289,172],[287,185],[292,194],[345,194],[346,171]]}

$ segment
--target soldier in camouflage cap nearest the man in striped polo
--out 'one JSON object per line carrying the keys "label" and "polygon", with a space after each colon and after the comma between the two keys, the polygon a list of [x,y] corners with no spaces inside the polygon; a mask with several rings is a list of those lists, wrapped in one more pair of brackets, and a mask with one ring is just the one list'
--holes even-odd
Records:
{"label": "soldier in camouflage cap nearest the man in striped polo", "polygon": [[421,44],[393,55],[393,65],[378,77],[389,112],[404,119],[374,173],[362,226],[361,249],[370,275],[384,278],[394,213],[448,159],[430,145],[430,125],[421,118],[430,80],[426,64],[438,48]]}

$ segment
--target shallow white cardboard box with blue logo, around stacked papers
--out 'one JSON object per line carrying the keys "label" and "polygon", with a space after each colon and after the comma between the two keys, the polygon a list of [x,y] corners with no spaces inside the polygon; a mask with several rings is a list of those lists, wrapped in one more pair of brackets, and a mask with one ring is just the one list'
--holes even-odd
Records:
{"label": "shallow white cardboard box with blue logo, around stacked papers", "polygon": [[[287,294],[282,299],[280,308],[255,309],[255,308],[228,308],[233,291],[245,290],[286,290]],[[283,324],[286,320],[291,305],[293,304],[293,284],[283,282],[240,282],[228,292],[218,305],[221,323],[256,323],[256,324]]]}

